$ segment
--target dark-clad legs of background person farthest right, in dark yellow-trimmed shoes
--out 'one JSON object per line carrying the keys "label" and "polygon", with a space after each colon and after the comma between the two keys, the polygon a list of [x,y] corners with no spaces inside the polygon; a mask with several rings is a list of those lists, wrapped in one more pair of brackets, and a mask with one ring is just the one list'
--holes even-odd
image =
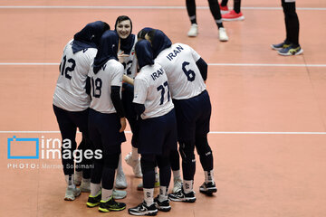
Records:
{"label": "dark-clad legs of background person farthest right, in dark yellow-trimmed shoes", "polygon": [[292,56],[302,54],[299,44],[299,18],[295,11],[295,0],[282,0],[285,20],[286,38],[284,42],[272,44],[272,49],[280,55]]}

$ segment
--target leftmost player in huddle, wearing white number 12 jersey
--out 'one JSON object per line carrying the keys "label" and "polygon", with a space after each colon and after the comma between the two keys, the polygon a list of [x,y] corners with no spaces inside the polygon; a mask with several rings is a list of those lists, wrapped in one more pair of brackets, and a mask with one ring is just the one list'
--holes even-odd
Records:
{"label": "leftmost player in huddle, wearing white number 12 jersey", "polygon": [[[74,159],[72,152],[77,146],[75,141],[77,127],[82,132],[83,138],[79,148],[82,151],[91,149],[88,138],[90,97],[86,91],[86,80],[91,62],[97,52],[101,34],[108,29],[110,26],[101,21],[87,24],[82,31],[74,35],[73,40],[66,44],[62,54],[60,74],[53,95],[53,110],[62,134],[62,142],[71,142],[70,146],[68,143],[67,146],[62,146],[63,173],[68,185],[64,200],[67,201],[73,201],[81,193],[73,183]],[[82,165],[91,165],[91,159],[87,161],[83,157],[82,160]],[[86,167],[82,171],[81,189],[87,192],[89,191],[91,169],[86,169]]]}

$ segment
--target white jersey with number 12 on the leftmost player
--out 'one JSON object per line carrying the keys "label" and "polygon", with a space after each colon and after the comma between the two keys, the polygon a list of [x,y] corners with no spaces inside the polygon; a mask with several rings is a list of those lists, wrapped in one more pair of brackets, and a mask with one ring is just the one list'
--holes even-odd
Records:
{"label": "white jersey with number 12 on the leftmost player", "polygon": [[68,111],[82,111],[90,107],[86,93],[86,79],[97,49],[72,52],[72,41],[63,49],[60,75],[53,94],[53,105]]}

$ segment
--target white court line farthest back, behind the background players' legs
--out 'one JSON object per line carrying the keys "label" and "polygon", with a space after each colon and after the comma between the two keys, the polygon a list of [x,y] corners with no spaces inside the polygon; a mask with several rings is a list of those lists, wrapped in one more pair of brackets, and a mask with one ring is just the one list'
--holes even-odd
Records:
{"label": "white court line farthest back, behind the background players' legs", "polygon": [[[232,7],[231,7],[232,8]],[[0,6],[0,9],[170,9],[170,10],[178,10],[178,9],[186,9],[186,6],[44,6],[44,5],[17,5],[17,6]],[[209,9],[208,6],[197,6],[197,9]],[[282,7],[241,7],[241,10],[283,10]],[[325,11],[325,7],[297,7],[296,10],[302,11]]]}

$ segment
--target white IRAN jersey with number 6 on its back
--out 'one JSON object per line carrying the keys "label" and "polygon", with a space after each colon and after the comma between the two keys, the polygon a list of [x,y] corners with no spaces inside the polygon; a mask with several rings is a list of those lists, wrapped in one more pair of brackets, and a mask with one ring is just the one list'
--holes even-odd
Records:
{"label": "white IRAN jersey with number 6 on its back", "polygon": [[206,90],[196,64],[199,59],[199,54],[183,43],[174,43],[158,54],[155,62],[167,72],[173,99],[190,99]]}

